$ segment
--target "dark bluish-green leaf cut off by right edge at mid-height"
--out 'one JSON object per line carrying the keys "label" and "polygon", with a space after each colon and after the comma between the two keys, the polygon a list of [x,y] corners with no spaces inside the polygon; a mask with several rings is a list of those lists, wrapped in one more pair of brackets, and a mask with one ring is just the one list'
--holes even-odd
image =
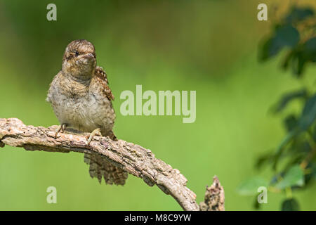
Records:
{"label": "dark bluish-green leaf cut off by right edge at mid-height", "polygon": [[301,118],[298,121],[299,127],[305,131],[307,130],[316,118],[316,94],[306,101],[303,108]]}

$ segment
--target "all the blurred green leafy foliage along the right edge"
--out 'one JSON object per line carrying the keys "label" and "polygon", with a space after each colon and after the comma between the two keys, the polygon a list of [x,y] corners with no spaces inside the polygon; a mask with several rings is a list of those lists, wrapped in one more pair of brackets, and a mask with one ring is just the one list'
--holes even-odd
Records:
{"label": "all the blurred green leafy foliage along the right edge", "polygon": [[[259,50],[259,60],[265,62],[286,51],[283,66],[291,68],[299,79],[303,79],[306,65],[316,62],[316,17],[312,8],[294,6],[272,29]],[[273,113],[281,113],[294,100],[300,101],[301,113],[290,113],[284,118],[287,131],[284,139],[272,153],[265,153],[256,162],[257,169],[270,165],[275,176],[270,183],[256,176],[244,181],[237,188],[242,195],[258,195],[259,186],[269,191],[285,193],[282,202],[284,211],[299,210],[299,204],[292,197],[292,191],[307,187],[316,180],[316,93],[303,86],[300,90],[284,94],[272,107]],[[281,167],[281,168],[280,168]],[[259,204],[254,204],[256,209]]]}

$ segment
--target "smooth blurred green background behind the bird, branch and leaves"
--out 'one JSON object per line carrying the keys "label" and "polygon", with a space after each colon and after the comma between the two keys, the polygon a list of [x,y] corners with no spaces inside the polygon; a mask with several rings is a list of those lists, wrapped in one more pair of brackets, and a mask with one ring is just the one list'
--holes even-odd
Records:
{"label": "smooth blurred green background behind the bird, branch and leaves", "polygon": [[[55,3],[57,21],[46,20]],[[256,158],[284,136],[269,108],[286,91],[311,85],[315,68],[297,81],[278,60],[261,64],[258,44],[272,18],[257,20],[263,1],[4,1],[0,2],[0,117],[25,124],[58,124],[46,91],[60,70],[62,54],[74,39],[96,46],[98,65],[107,70],[116,96],[119,139],[150,148],[180,170],[187,186],[204,198],[216,174],[225,188],[226,210],[252,210],[254,198],[237,185],[257,174]],[[291,1],[264,1],[268,12]],[[313,0],[300,1],[316,7]],[[177,116],[122,116],[121,91],[196,90],[197,120]],[[295,105],[294,105],[295,108]],[[270,177],[267,169],[261,172]],[[58,203],[46,203],[55,186]],[[313,184],[315,190],[315,184]],[[316,210],[313,188],[295,193],[301,210]],[[284,195],[268,195],[262,210],[279,210]],[[79,153],[0,150],[0,210],[181,210],[169,195],[141,179],[106,186],[88,175]]]}

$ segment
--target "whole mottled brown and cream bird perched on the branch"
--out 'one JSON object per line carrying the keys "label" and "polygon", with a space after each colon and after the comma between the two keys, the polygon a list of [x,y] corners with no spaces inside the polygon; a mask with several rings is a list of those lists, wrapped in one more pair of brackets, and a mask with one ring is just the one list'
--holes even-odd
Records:
{"label": "whole mottled brown and cream bird perched on the branch", "polygon": [[[117,141],[112,128],[116,118],[112,101],[114,96],[107,80],[107,73],[96,65],[96,49],[90,41],[78,39],[70,42],[62,57],[62,68],[51,82],[46,101],[51,103],[60,122],[55,131],[74,129],[93,136],[108,136]],[[103,155],[85,153],[84,162],[89,165],[89,174],[101,184],[124,185],[127,172],[112,165]]]}

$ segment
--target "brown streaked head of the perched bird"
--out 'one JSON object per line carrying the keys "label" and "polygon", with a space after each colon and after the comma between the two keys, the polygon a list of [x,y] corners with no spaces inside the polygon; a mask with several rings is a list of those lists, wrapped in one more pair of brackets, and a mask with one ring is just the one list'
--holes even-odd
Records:
{"label": "brown streaked head of the perched bird", "polygon": [[62,72],[77,79],[88,79],[96,68],[96,50],[91,42],[84,39],[68,44],[62,58]]}

